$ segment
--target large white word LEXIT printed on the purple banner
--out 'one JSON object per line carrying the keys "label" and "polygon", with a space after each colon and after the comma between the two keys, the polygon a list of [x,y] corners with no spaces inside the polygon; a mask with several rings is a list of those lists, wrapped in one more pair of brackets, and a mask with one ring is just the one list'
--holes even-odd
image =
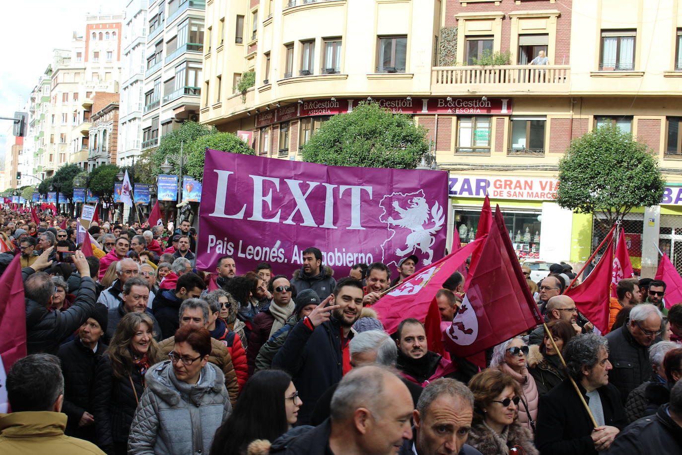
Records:
{"label": "large white word LEXIT printed on the purple banner", "polygon": [[[209,216],[216,216],[218,218],[233,218],[236,220],[243,220],[246,214],[246,206],[248,203],[244,203],[241,209],[234,214],[226,214],[226,198],[228,194],[228,181],[233,171],[224,171],[222,169],[213,169],[213,172],[218,174],[218,181],[216,182],[216,205],[213,207],[213,212]],[[278,177],[267,177],[263,175],[249,175],[253,181],[253,197],[252,197],[252,215],[248,218],[251,221],[263,221],[263,222],[273,222],[282,224],[299,224],[300,226],[311,226],[311,227],[322,227],[326,229],[338,229],[337,226],[333,224],[333,214],[334,214],[334,204],[336,200],[340,200],[344,195],[346,190],[351,190],[351,224],[347,226],[346,229],[365,229],[361,222],[361,198],[362,192],[365,191],[369,199],[372,199],[372,187],[371,186],[359,186],[359,185],[333,185],[327,184],[319,181],[306,181],[308,184],[308,190],[304,193],[301,190],[301,184],[303,180],[295,179],[284,179],[286,188],[288,188],[289,196],[291,196],[296,203],[296,207],[291,211],[291,214],[284,221],[280,221],[282,210],[278,210],[277,213],[271,218],[265,218],[263,215],[263,207],[266,210],[272,210],[272,196],[273,189],[267,188],[267,192],[264,191],[265,184],[263,182],[270,181],[274,189],[280,192],[280,179]],[[310,206],[308,205],[308,196],[322,184],[325,191],[325,203],[324,203],[324,216],[323,224],[317,224]],[[338,196],[335,198],[334,190],[338,188]],[[302,222],[295,222],[293,220],[294,216],[300,213]]]}

